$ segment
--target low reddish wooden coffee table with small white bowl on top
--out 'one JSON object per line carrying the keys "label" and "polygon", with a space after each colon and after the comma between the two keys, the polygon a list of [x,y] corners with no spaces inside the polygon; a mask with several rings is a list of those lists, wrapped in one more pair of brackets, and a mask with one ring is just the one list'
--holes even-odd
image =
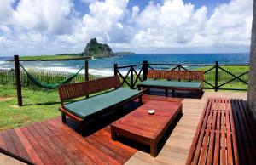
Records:
{"label": "low reddish wooden coffee table with small white bowl on top", "polygon": [[[154,115],[148,110],[154,109]],[[182,104],[168,101],[148,101],[125,117],[111,124],[112,139],[117,135],[150,145],[150,155],[157,156],[157,145],[167,128],[178,114],[182,114]]]}

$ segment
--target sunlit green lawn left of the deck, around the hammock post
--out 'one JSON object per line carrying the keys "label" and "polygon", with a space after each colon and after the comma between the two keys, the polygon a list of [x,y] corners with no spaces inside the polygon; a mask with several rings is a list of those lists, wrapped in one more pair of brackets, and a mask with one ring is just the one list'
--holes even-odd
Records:
{"label": "sunlit green lawn left of the deck, around the hammock post", "polygon": [[31,90],[22,88],[23,105],[17,106],[14,86],[1,86],[0,97],[11,97],[10,100],[0,102],[0,131],[9,128],[26,126],[33,122],[41,122],[49,118],[58,117],[60,99],[57,91]]}

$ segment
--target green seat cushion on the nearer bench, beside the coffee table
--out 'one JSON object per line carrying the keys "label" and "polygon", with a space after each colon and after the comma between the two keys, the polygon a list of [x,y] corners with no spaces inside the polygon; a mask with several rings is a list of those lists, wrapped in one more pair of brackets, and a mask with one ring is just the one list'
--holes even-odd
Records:
{"label": "green seat cushion on the nearer bench, beside the coffee table", "polygon": [[88,117],[97,111],[102,111],[124,100],[129,100],[141,91],[129,88],[117,88],[108,93],[99,94],[88,99],[73,101],[64,105],[64,108],[80,118]]}

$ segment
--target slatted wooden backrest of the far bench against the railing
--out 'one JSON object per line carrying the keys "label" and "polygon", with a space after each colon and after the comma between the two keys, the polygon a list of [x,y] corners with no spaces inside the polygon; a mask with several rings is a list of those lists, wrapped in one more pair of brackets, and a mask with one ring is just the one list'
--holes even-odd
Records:
{"label": "slatted wooden backrest of the far bench against the railing", "polygon": [[150,70],[148,78],[172,79],[172,80],[200,80],[204,79],[203,71],[167,71]]}

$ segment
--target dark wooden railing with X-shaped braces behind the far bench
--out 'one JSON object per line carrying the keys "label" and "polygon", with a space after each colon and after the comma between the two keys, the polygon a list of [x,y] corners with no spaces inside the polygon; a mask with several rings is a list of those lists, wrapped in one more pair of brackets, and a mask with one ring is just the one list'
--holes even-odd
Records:
{"label": "dark wooden railing with X-shaped braces behind the far bench", "polygon": [[[218,61],[215,64],[161,64],[148,63],[145,60],[143,64],[123,66],[114,64],[113,67],[114,74],[119,75],[123,85],[130,88],[137,88],[137,83],[146,80],[148,70],[203,70],[205,89],[213,89],[217,92],[218,90],[247,91],[248,66],[248,64],[219,64]],[[243,68],[244,71],[234,71],[235,67]]]}

